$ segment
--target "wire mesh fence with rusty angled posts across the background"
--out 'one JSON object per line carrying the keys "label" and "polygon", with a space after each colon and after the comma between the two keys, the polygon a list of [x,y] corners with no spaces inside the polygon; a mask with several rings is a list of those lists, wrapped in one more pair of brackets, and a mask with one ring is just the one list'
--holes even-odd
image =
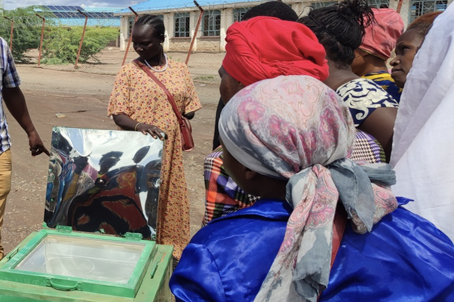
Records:
{"label": "wire mesh fence with rusty angled posts across the background", "polygon": [[[151,13],[160,17],[165,25],[163,45],[167,56],[186,62],[190,53],[188,65],[193,78],[216,83],[219,81],[217,70],[224,57],[226,29],[241,21],[251,7],[260,3],[263,2],[212,4],[203,6],[203,11],[188,3],[179,8],[147,9],[137,14]],[[301,17],[312,8],[335,3],[291,0],[287,4]],[[369,3],[376,8],[400,11],[407,25],[418,16],[442,11],[448,5],[447,0],[370,0]],[[128,49],[135,20],[134,13],[129,10],[115,14],[82,14],[78,11],[40,11],[35,7],[2,11],[2,14],[0,36],[11,43],[18,63],[39,63],[41,67],[57,70],[116,74],[123,61],[130,62],[137,57],[132,44]]]}

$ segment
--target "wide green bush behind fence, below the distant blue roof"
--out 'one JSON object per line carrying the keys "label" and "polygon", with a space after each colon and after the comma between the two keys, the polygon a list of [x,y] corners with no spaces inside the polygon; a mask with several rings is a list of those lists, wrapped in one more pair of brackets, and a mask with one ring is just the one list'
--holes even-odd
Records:
{"label": "wide green bush behind fence, below the distant blue roof", "polygon": [[[75,63],[83,27],[50,27],[43,42],[43,60],[45,64]],[[111,27],[87,27],[80,52],[79,62],[92,59],[99,62],[96,54],[108,43],[118,38],[119,29]]]}

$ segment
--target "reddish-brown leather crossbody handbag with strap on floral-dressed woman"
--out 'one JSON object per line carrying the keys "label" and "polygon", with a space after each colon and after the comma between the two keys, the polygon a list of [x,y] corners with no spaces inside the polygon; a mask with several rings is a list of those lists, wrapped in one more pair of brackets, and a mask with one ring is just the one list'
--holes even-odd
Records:
{"label": "reddish-brown leather crossbody handbag with strap on floral-dressed woman", "polygon": [[[134,62],[137,65],[139,64],[139,61],[136,59]],[[194,149],[194,139],[192,138],[192,127],[191,123],[189,120],[181,115],[180,110],[178,110],[177,104],[175,103],[174,97],[172,94],[165,88],[165,85],[162,84],[161,81],[159,81],[156,76],[151,72],[145,65],[142,64],[142,69],[145,71],[146,74],[149,75],[151,79],[153,79],[154,82],[156,82],[157,85],[159,85],[160,88],[165,92],[167,95],[168,101],[172,105],[172,109],[174,109],[175,115],[177,115],[178,123],[180,124],[180,132],[181,132],[181,147],[183,151],[190,152]]]}

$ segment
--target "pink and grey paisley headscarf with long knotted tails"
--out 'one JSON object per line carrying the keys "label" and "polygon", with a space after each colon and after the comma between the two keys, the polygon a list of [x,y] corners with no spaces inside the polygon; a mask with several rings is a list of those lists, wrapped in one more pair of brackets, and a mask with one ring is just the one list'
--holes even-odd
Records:
{"label": "pink and grey paisley headscarf with long knotted tails", "polygon": [[333,90],[305,75],[241,90],[222,110],[219,135],[242,165],[289,179],[286,198],[294,210],[255,301],[315,302],[329,280],[338,200],[356,232],[370,231],[397,207],[386,187],[395,182],[390,166],[359,166],[346,158],[355,139],[349,109]]}

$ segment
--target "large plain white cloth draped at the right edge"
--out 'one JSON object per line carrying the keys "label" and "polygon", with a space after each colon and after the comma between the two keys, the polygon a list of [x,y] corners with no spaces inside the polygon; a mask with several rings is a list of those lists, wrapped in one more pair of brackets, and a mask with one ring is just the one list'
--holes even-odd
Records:
{"label": "large plain white cloth draped at the right edge", "polygon": [[418,51],[394,126],[396,196],[454,240],[454,5],[438,16]]}

